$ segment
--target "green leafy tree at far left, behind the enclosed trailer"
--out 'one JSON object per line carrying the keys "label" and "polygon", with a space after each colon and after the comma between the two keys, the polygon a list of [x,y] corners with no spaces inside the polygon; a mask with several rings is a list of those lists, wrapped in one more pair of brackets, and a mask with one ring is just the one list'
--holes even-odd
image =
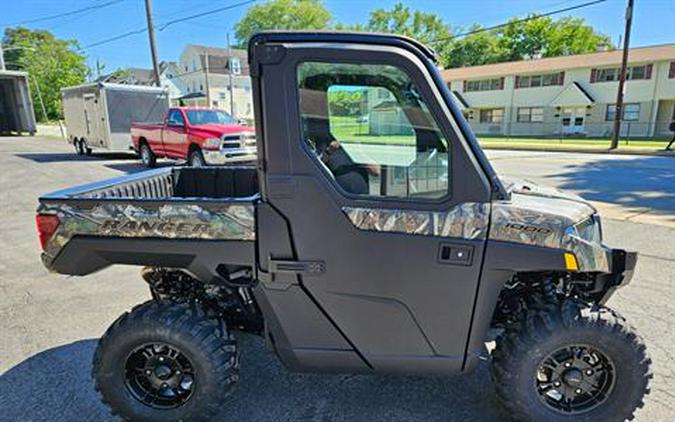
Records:
{"label": "green leafy tree at far left, behind the enclosed trailer", "polygon": [[38,120],[45,119],[39,94],[47,119],[62,117],[61,88],[83,83],[88,72],[85,57],[76,51],[77,42],[58,39],[46,30],[16,27],[5,29],[2,45],[7,68],[29,74]]}

